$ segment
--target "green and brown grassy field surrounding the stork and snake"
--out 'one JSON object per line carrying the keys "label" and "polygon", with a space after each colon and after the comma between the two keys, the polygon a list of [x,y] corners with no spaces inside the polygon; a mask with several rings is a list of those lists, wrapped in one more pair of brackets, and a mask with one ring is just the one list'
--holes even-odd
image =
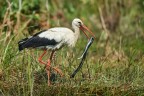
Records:
{"label": "green and brown grassy field surrounding the stork and snake", "polygon": [[[144,95],[142,0],[20,1],[0,1],[0,95]],[[59,50],[52,66],[59,66],[64,76],[51,70],[55,80],[48,86],[44,66],[37,60],[42,52],[34,49],[19,52],[17,43],[39,31],[28,31],[30,26],[71,28],[75,17],[82,19],[97,39],[89,49],[84,66],[73,79],[70,75],[80,62],[77,58],[87,39],[81,34],[75,48]],[[45,61],[49,54],[50,51],[43,58]]]}

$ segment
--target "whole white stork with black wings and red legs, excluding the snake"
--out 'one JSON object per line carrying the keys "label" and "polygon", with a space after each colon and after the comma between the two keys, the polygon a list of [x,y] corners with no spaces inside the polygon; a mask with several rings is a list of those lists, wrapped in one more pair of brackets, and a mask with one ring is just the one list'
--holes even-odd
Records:
{"label": "whole white stork with black wings and red legs, excluding the snake", "polygon": [[[75,18],[72,21],[72,27],[74,31],[65,27],[50,28],[48,30],[40,31],[35,35],[22,39],[18,42],[19,51],[25,48],[39,48],[44,50],[44,53],[39,57],[38,61],[46,65],[48,85],[50,85],[50,67],[54,52],[64,45],[74,47],[79,37],[80,29],[87,36],[88,39],[89,36],[84,30],[90,32],[90,34],[95,38],[94,34],[78,18]],[[52,50],[52,53],[48,61],[43,62],[42,57],[46,54],[47,50]],[[63,75],[62,72],[56,67],[53,67],[53,69],[57,71],[61,76]]]}

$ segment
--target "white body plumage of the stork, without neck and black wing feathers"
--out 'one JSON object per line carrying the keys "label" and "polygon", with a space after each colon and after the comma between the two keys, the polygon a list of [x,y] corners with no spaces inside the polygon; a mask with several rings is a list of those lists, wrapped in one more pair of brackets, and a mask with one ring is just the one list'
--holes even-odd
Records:
{"label": "white body plumage of the stork, without neck and black wing feathers", "polygon": [[64,27],[55,27],[50,28],[45,32],[42,32],[38,36],[41,38],[47,38],[49,40],[54,39],[56,42],[59,42],[56,46],[53,45],[46,46],[47,49],[59,49],[62,45],[68,45],[70,47],[74,47],[78,39],[78,36],[75,36],[74,34],[75,33],[71,29]]}

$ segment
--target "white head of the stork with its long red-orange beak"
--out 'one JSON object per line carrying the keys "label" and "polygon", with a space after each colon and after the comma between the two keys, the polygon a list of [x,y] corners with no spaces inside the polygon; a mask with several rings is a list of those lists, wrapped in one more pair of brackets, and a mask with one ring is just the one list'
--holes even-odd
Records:
{"label": "white head of the stork with its long red-orange beak", "polygon": [[80,19],[75,18],[72,21],[72,26],[73,26],[74,29],[75,28],[79,28],[80,30],[82,30],[83,33],[86,35],[86,37],[88,39],[90,39],[90,37],[87,35],[87,33],[85,32],[85,30],[87,30],[94,38],[96,38],[95,35],[83,24],[83,22]]}

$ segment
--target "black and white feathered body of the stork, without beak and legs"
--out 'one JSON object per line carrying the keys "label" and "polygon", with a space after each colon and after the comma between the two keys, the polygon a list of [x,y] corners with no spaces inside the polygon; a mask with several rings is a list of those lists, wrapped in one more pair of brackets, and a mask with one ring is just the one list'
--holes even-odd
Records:
{"label": "black and white feathered body of the stork, without beak and legs", "polygon": [[74,47],[80,34],[78,22],[82,23],[80,19],[74,19],[72,22],[74,32],[65,27],[55,27],[24,38],[18,42],[19,50],[25,48],[57,50],[64,45]]}

